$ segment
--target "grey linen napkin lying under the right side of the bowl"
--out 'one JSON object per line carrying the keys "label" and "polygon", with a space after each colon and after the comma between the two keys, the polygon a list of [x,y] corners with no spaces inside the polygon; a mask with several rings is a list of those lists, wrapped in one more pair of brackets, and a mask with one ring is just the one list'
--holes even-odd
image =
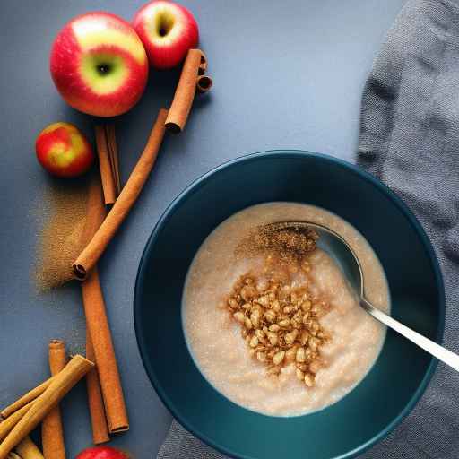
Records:
{"label": "grey linen napkin lying under the right side of the bowl", "polygon": [[[456,352],[458,150],[459,7],[448,0],[409,0],[368,78],[358,162],[400,195],[429,233],[446,282],[445,344]],[[459,458],[458,386],[459,376],[440,364],[411,415],[361,458]],[[224,456],[174,420],[158,459]]]}

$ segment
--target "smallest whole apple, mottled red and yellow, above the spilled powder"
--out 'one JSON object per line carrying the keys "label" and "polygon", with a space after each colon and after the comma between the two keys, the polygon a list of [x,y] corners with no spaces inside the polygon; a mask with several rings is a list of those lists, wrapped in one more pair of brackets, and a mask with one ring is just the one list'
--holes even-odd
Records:
{"label": "smallest whole apple, mottled red and yellow, above the spilled powder", "polygon": [[45,127],[35,143],[39,163],[58,177],[75,177],[86,172],[94,160],[91,144],[70,123]]}

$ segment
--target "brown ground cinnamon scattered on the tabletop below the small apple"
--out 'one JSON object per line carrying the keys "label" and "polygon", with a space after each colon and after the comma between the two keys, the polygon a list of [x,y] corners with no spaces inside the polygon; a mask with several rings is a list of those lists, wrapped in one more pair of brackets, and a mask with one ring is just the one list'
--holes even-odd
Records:
{"label": "brown ground cinnamon scattered on the tabletop below the small apple", "polygon": [[53,179],[43,197],[37,244],[35,281],[49,290],[73,279],[72,262],[82,250],[90,174]]}

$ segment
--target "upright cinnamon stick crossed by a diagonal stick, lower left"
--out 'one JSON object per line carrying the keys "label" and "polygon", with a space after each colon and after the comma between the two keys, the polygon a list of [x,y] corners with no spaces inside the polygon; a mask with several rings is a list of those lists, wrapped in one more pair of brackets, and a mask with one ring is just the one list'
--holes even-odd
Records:
{"label": "upright cinnamon stick crossed by a diagonal stick, lower left", "polygon": [[[49,342],[48,357],[51,376],[55,376],[67,364],[64,342],[60,340]],[[45,459],[65,459],[64,429],[58,405],[49,411],[41,424],[41,444]]]}

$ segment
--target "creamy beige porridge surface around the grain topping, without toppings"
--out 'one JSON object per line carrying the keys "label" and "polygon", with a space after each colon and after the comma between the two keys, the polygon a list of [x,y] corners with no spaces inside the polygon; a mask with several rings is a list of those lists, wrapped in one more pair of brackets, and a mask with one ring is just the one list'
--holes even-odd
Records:
{"label": "creamy beige porridge surface around the grain topping, without toppings", "polygon": [[313,221],[341,234],[359,256],[366,295],[389,310],[385,273],[368,242],[349,223],[324,209],[294,203],[259,204],[238,212],[206,238],[190,267],[183,300],[186,340],[204,377],[230,400],[275,416],[299,415],[330,405],[348,394],[377,359],[385,329],[359,307],[339,268],[322,250],[311,255],[310,273],[317,293],[331,306],[320,324],[332,335],[322,347],[327,366],[316,373],[313,387],[295,377],[290,364],[279,376],[266,376],[266,366],[250,357],[240,325],[224,303],[239,276],[256,270],[256,257],[234,252],[242,238],[259,225],[274,221]]}

